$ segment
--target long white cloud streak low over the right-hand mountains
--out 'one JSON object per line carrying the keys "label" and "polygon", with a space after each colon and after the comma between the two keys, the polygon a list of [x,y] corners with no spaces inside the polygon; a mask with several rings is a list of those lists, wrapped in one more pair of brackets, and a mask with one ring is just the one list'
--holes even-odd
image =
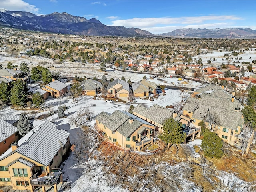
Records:
{"label": "long white cloud streak low over the right-hand mountains", "polygon": [[197,24],[210,20],[242,20],[242,18],[235,16],[199,16],[199,17],[179,17],[179,18],[132,18],[127,20],[115,20],[112,24],[115,26],[125,27],[154,27],[168,24]]}

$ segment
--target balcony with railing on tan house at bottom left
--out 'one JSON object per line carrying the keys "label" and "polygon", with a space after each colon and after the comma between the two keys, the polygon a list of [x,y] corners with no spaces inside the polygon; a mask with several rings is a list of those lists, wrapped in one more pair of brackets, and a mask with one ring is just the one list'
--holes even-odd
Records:
{"label": "balcony with railing on tan house at bottom left", "polygon": [[52,186],[58,182],[61,174],[61,169],[51,169],[51,172],[46,176],[32,175],[30,177],[30,183],[32,186]]}

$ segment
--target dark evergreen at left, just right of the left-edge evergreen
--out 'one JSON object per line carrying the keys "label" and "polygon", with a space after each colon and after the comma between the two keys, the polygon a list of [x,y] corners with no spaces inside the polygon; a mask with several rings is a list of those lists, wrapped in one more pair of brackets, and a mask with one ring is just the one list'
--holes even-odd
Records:
{"label": "dark evergreen at left, just right of the left-edge evergreen", "polygon": [[26,83],[18,79],[16,82],[14,82],[14,85],[11,89],[10,100],[12,104],[15,106],[24,105],[27,99],[27,93],[28,93],[28,87],[26,86]]}

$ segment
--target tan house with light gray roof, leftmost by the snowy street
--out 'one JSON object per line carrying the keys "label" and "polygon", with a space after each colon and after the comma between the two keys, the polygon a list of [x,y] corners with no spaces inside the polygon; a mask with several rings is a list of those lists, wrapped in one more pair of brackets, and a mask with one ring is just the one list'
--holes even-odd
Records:
{"label": "tan house with light gray roof, leftmost by the snowy street", "polygon": [[68,86],[59,80],[54,80],[41,88],[49,93],[49,96],[60,97],[68,92]]}

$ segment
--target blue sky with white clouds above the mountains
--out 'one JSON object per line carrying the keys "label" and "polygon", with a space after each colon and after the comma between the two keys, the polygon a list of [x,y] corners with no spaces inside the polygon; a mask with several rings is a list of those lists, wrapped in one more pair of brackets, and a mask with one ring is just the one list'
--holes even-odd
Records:
{"label": "blue sky with white clouds above the mountains", "polygon": [[255,0],[0,0],[0,8],[37,15],[67,12],[105,25],[147,30],[152,34],[178,28],[256,29]]}

